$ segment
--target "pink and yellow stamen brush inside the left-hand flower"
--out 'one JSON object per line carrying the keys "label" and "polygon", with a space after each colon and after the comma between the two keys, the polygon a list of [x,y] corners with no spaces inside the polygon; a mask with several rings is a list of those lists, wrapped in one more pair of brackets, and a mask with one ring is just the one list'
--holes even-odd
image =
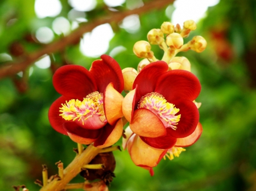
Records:
{"label": "pink and yellow stamen brush inside the left-hand flower", "polygon": [[90,117],[97,115],[102,122],[106,121],[104,107],[103,107],[103,95],[98,91],[87,95],[82,101],[78,99],[71,99],[66,101],[65,104],[61,104],[60,116],[67,121],[84,121]]}

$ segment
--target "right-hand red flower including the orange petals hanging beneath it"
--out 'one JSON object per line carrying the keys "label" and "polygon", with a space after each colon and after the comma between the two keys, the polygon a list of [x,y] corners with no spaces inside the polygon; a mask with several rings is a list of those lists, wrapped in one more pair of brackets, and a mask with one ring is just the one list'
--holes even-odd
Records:
{"label": "right-hand red flower including the orange petals hanging beneath it", "polygon": [[122,104],[134,133],[129,134],[125,146],[136,165],[149,169],[152,175],[152,167],[168,149],[196,142],[202,129],[197,128],[199,111],[193,100],[200,90],[195,75],[185,70],[168,71],[166,62],[157,61],[142,69]]}

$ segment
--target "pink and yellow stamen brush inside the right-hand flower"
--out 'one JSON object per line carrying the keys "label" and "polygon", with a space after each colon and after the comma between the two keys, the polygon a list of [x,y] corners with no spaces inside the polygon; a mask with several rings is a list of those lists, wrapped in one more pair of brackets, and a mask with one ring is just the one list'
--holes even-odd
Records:
{"label": "pink and yellow stamen brush inside the right-hand flower", "polygon": [[166,128],[177,129],[177,122],[180,121],[180,114],[176,115],[180,109],[175,108],[174,104],[168,103],[164,96],[157,92],[151,92],[144,95],[138,103],[139,108],[149,109],[163,122]]}

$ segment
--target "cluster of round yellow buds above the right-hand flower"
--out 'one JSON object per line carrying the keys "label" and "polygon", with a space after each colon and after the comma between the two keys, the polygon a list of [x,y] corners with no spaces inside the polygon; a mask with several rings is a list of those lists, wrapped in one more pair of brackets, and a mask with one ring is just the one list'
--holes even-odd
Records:
{"label": "cluster of round yellow buds above the right-hand flower", "polygon": [[[151,29],[147,33],[148,41],[138,41],[134,44],[133,52],[139,58],[144,58],[139,63],[138,72],[148,63],[158,61],[151,51],[151,45],[159,45],[164,50],[162,61],[170,66],[170,70],[183,69],[190,71],[190,63],[185,57],[175,57],[179,52],[194,50],[197,53],[203,52],[207,46],[207,41],[202,36],[194,36],[187,44],[184,38],[189,36],[191,31],[195,31],[196,23],[193,20],[186,20],[183,28],[179,24],[164,22],[160,29]],[[165,38],[165,39],[164,39]]]}

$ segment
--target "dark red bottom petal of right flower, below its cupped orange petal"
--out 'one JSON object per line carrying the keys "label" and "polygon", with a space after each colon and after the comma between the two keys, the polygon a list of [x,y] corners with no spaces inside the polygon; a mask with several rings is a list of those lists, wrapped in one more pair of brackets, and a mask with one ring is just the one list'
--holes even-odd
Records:
{"label": "dark red bottom petal of right flower, below its cupped orange petal", "polygon": [[173,129],[167,128],[166,131],[167,131],[166,136],[156,137],[156,138],[141,137],[141,139],[151,147],[160,148],[160,149],[169,149],[175,145],[177,138],[172,137]]}

